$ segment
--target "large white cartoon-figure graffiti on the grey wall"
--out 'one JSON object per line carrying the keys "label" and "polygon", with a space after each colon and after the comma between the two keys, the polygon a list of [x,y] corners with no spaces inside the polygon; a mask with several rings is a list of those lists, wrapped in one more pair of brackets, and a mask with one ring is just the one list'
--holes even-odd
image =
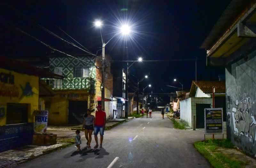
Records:
{"label": "large white cartoon-figure graffiti on the grey wall", "polygon": [[234,134],[248,137],[254,145],[256,121],[251,111],[252,100],[244,93],[244,98],[236,99],[235,104],[236,108],[232,108]]}

